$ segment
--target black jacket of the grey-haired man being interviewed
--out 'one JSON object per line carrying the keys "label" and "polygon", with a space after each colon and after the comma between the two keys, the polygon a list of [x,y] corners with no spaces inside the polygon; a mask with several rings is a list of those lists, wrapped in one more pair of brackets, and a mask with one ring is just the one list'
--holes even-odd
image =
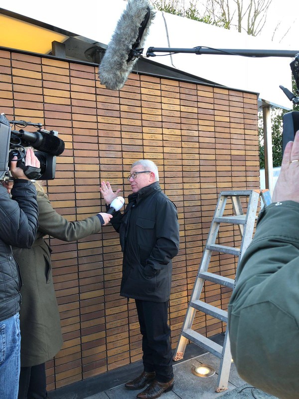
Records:
{"label": "black jacket of the grey-haired man being interviewed", "polygon": [[177,211],[158,182],[128,197],[112,225],[120,233],[124,252],[121,295],[166,302],[171,288],[172,262],[179,246]]}

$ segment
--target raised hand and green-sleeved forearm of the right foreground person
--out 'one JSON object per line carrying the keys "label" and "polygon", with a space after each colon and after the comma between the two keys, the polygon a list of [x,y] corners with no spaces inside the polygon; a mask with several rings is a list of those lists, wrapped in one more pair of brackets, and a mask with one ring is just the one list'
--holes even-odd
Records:
{"label": "raised hand and green-sleeved forearm of the right foreground person", "polygon": [[[276,273],[298,256],[299,244],[299,135],[286,146],[273,203],[259,215],[254,238],[237,271],[231,304],[240,303],[244,290]],[[284,250],[288,248],[288,250]],[[242,298],[245,299],[245,296]]]}

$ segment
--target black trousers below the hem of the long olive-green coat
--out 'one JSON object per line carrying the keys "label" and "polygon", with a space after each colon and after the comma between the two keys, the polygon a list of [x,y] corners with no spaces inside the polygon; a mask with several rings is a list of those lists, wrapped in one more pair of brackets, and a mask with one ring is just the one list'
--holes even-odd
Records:
{"label": "black trousers below the hem of the long olive-green coat", "polygon": [[45,364],[21,367],[17,399],[46,399]]}

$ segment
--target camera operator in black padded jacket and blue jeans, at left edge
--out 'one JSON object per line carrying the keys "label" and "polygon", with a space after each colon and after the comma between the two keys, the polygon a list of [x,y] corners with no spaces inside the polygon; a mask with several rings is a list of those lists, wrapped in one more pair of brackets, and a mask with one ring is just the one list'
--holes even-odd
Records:
{"label": "camera operator in black padded jacket and blue jeans, at left edge", "polygon": [[[19,308],[21,302],[18,266],[11,245],[29,248],[37,231],[36,190],[22,169],[10,164],[14,178],[11,198],[0,185],[0,398],[16,399],[20,371]],[[39,167],[32,150],[25,165]]]}

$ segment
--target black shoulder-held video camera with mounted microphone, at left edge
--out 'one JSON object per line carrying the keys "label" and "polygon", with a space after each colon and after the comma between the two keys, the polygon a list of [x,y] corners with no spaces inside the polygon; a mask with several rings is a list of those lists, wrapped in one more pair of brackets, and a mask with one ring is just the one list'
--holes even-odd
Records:
{"label": "black shoulder-held video camera with mounted microphone, at left edge", "polygon": [[[36,132],[23,129],[12,130],[13,126],[35,126]],[[64,142],[58,138],[58,132],[41,129],[42,124],[25,121],[8,121],[0,114],[0,180],[9,180],[10,161],[17,157],[17,166],[23,169],[28,179],[53,180],[55,178],[56,156],[64,151]],[[25,166],[25,147],[33,147],[34,155],[40,162],[40,168]]]}

